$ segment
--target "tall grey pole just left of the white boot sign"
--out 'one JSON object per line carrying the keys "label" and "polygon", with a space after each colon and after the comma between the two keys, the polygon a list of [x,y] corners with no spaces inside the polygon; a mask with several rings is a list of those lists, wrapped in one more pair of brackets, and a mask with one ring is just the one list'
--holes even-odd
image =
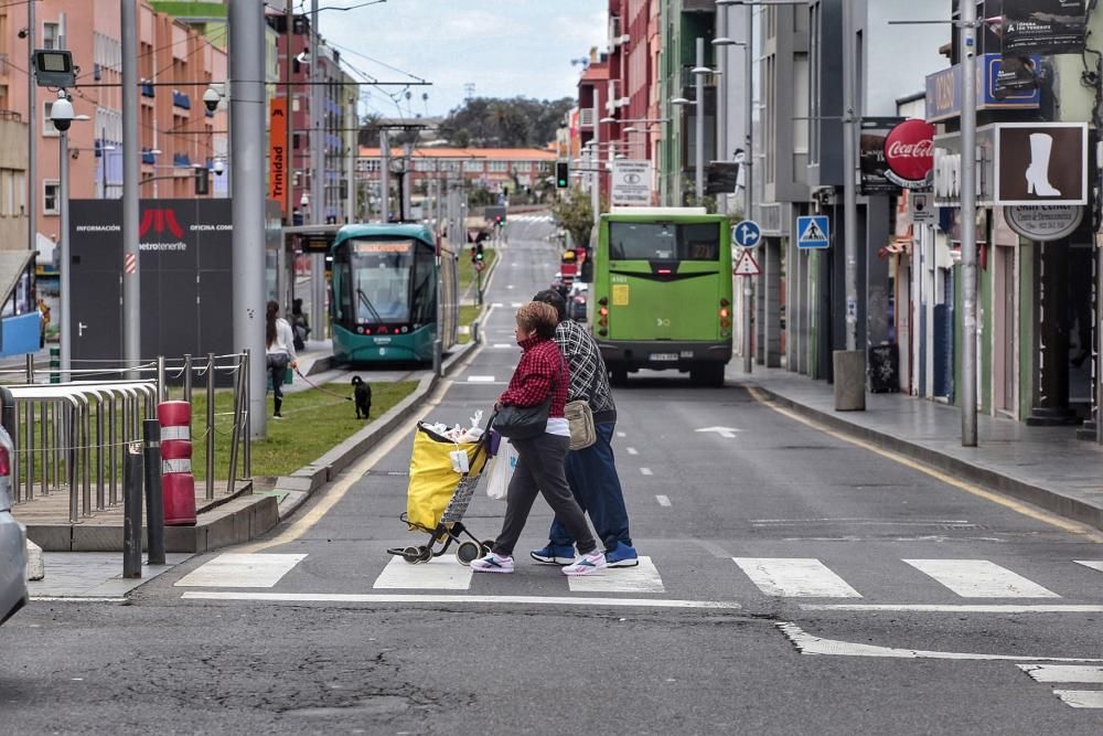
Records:
{"label": "tall grey pole just left of the white boot sign", "polygon": [[976,3],[959,3],[962,64],[962,447],[976,447]]}

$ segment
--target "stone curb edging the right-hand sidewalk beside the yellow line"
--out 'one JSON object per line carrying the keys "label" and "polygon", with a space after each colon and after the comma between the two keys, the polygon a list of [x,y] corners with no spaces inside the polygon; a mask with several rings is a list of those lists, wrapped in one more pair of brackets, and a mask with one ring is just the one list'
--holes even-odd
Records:
{"label": "stone curb edging the right-hand sidewalk beside the yellow line", "polygon": [[1079,499],[1062,495],[1061,493],[1058,493],[1049,488],[1028,483],[1004,472],[967,462],[961,458],[955,458],[951,455],[946,455],[945,452],[940,452],[939,450],[920,445],[919,442],[900,439],[899,437],[895,437],[887,433],[847,422],[846,419],[843,419],[834,414],[812,408],[786,396],[782,396],[767,386],[756,383],[742,383],[741,385],[753,387],[769,396],[770,401],[783,405],[784,407],[810,419],[815,419],[820,424],[826,425],[832,429],[837,429],[857,439],[867,440],[871,444],[879,445],[886,449],[903,455],[904,457],[919,460],[920,462],[929,465],[933,468],[952,473],[962,480],[976,483],[977,486],[984,486],[985,488],[1020,501],[1026,501],[1039,506],[1040,509],[1045,509],[1046,511],[1052,512],[1059,516],[1063,516],[1064,519],[1070,519],[1072,521],[1078,521],[1082,524],[1103,530],[1103,508],[1092,505],[1091,503],[1086,503]]}

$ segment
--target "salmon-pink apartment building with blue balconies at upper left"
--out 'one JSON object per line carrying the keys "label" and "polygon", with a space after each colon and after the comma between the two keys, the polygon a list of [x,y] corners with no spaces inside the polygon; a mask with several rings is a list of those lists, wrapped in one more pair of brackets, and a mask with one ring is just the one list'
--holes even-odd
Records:
{"label": "salmon-pink apartment building with blue balconies at upper left", "polygon": [[[119,4],[103,0],[40,0],[35,4],[35,45],[68,49],[79,67],[71,89],[73,108],[87,115],[69,128],[69,195],[72,199],[111,198],[122,193],[122,44]],[[143,198],[193,196],[195,164],[208,164],[226,151],[227,119],[223,108],[208,114],[203,92],[227,75],[226,54],[188,25],[146,3],[138,7],[139,140],[127,141],[141,154]],[[26,6],[0,7],[0,109],[28,119],[30,38]],[[10,63],[9,63],[10,62]],[[38,202],[39,241],[44,245],[60,233],[57,130],[50,121],[56,93],[35,92],[39,181],[32,183]],[[212,177],[211,192],[225,188]],[[225,178],[223,178],[225,179]],[[41,249],[41,248],[40,248]]]}

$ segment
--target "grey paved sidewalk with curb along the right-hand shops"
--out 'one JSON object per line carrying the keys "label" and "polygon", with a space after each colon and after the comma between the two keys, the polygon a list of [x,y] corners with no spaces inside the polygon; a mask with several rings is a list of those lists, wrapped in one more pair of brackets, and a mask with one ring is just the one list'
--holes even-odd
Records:
{"label": "grey paved sidewalk with curb along the right-hand shops", "polygon": [[866,394],[865,412],[836,412],[834,386],[782,369],[742,361],[728,365],[729,383],[753,386],[774,402],[833,429],[869,440],[940,470],[1103,529],[1103,446],[1077,439],[1077,427],[1028,427],[977,417],[977,447],[961,445],[954,406],[906,394]]}

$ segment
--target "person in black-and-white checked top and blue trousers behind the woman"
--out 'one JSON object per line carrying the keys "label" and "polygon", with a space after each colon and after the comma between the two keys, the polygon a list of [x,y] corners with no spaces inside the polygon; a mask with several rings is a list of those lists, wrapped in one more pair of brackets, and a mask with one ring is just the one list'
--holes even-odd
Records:
{"label": "person in black-and-white checked top and blue trousers behind the woman", "polygon": [[[609,387],[609,372],[593,337],[578,322],[567,319],[567,303],[558,291],[540,291],[533,301],[550,305],[559,318],[555,341],[570,367],[567,401],[586,399],[593,413],[597,441],[581,450],[567,452],[565,471],[575,500],[589,514],[593,529],[606,548],[609,567],[634,567],[640,564],[628,527],[628,509],[617,463],[612,438],[617,428],[617,405]],[[533,559],[547,565],[566,565],[575,556],[575,538],[560,523],[552,522],[548,545],[533,550]]]}

